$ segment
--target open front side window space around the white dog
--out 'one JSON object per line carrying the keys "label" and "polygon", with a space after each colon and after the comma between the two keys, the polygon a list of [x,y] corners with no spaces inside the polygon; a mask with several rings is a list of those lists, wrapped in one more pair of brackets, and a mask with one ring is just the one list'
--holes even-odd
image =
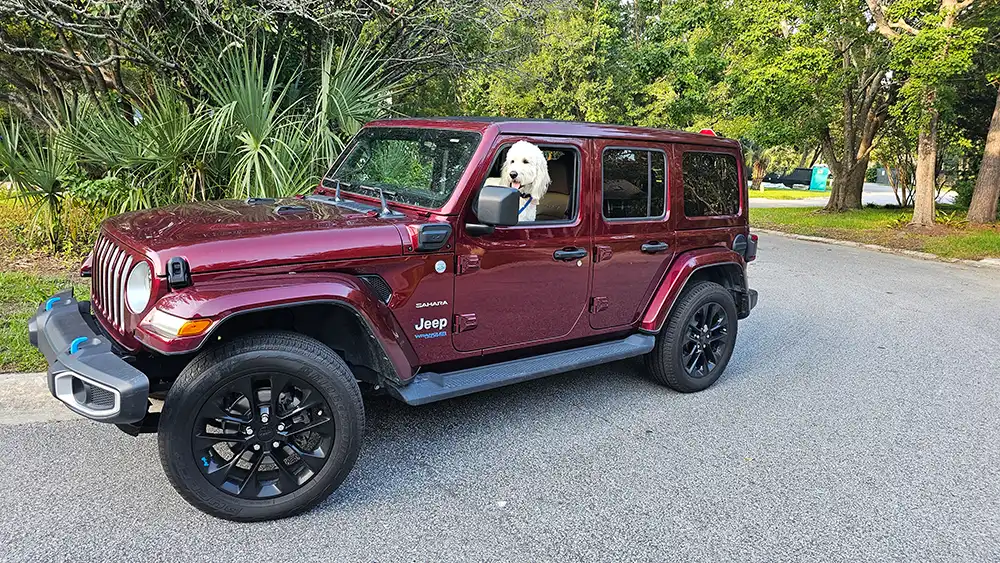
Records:
{"label": "open front side window space around the white dog", "polygon": [[[579,155],[576,149],[565,146],[538,145],[545,153],[545,160],[548,165],[549,184],[545,196],[538,202],[535,212],[535,223],[563,222],[576,217],[575,202],[579,193],[579,179],[577,171],[579,167]],[[510,144],[507,144],[499,152],[490,167],[485,185],[509,186],[510,182],[500,175],[504,159],[507,158],[507,151]],[[526,224],[524,221],[519,223]],[[530,222],[527,224],[531,224]]]}

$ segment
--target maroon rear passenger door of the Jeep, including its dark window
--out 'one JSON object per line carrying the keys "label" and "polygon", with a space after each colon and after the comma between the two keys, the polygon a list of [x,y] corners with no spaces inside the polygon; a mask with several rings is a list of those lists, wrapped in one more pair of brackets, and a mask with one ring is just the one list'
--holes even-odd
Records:
{"label": "maroon rear passenger door of the Jeep, including its dark window", "polygon": [[604,329],[639,319],[673,257],[670,146],[596,144],[590,326]]}

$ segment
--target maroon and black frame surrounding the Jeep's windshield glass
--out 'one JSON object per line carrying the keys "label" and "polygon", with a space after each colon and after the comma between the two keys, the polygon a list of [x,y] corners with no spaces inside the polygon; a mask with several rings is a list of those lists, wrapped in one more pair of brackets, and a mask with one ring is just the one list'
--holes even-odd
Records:
{"label": "maroon and black frame surrounding the Jeep's windshield glass", "polygon": [[[474,141],[474,144],[472,146],[472,152],[471,152],[470,157],[469,157],[469,162],[466,164],[465,169],[462,171],[462,174],[459,175],[458,179],[456,180],[455,187],[451,190],[451,193],[448,194],[448,196],[444,200],[441,201],[441,204],[439,206],[437,206],[437,207],[427,207],[427,206],[419,205],[419,204],[416,204],[416,203],[409,203],[409,202],[394,200],[389,195],[393,190],[391,188],[389,188],[389,187],[382,186],[382,189],[385,191],[386,202],[389,205],[391,205],[393,207],[400,207],[400,208],[403,208],[403,209],[409,209],[409,210],[413,210],[413,211],[416,211],[416,212],[423,212],[423,213],[426,213],[426,212],[429,212],[429,211],[431,211],[431,212],[444,212],[444,210],[447,210],[447,209],[449,209],[452,206],[452,202],[455,201],[456,198],[460,197],[460,195],[461,195],[461,193],[463,191],[462,187],[465,185],[465,183],[467,182],[468,178],[471,175],[475,174],[476,170],[478,169],[477,164],[478,164],[478,162],[480,160],[480,153],[483,150],[484,142],[485,142],[486,138],[488,137],[488,135],[486,135],[485,132],[483,130],[479,129],[479,128],[448,127],[448,126],[441,125],[441,124],[429,124],[429,125],[426,125],[426,126],[425,125],[414,125],[414,124],[409,124],[409,123],[405,124],[405,125],[402,124],[402,123],[400,123],[400,124],[393,124],[393,123],[381,124],[380,123],[380,124],[377,124],[377,125],[371,125],[371,124],[369,124],[369,125],[366,125],[365,127],[363,127],[360,131],[358,131],[358,133],[355,134],[351,138],[351,141],[349,143],[347,143],[347,145],[344,147],[344,150],[342,150],[340,152],[340,154],[337,156],[337,159],[334,161],[333,165],[330,166],[329,169],[327,169],[326,173],[321,178],[320,185],[319,185],[317,191],[329,192],[330,194],[333,193],[334,189],[332,187],[330,187],[330,184],[328,182],[336,180],[336,176],[334,175],[334,172],[336,172],[337,170],[339,170],[340,167],[344,165],[344,162],[347,159],[347,157],[357,147],[357,145],[358,145],[358,139],[361,137],[361,134],[363,132],[365,132],[365,131],[369,131],[369,130],[372,130],[372,129],[424,129],[424,130],[441,131],[441,132],[470,133],[470,134],[476,135],[477,139]],[[350,183],[350,182],[344,180],[344,182],[343,182],[343,184],[341,186],[341,189],[340,189],[341,194],[342,195],[343,194],[349,194],[352,199],[356,198],[356,199],[360,199],[360,200],[364,200],[364,201],[368,201],[368,202],[373,202],[376,205],[378,204],[378,202],[379,202],[379,190],[378,190],[378,188],[375,185],[360,184],[360,186],[364,187],[361,191],[354,191],[354,189],[352,189],[352,188],[354,188],[355,186],[356,186],[356,184],[353,184],[353,183]]]}

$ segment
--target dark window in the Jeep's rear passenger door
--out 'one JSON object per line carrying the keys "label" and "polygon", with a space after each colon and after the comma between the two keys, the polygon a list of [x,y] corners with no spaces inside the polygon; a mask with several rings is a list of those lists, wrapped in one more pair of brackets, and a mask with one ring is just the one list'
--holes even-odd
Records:
{"label": "dark window in the Jeep's rear passenger door", "polygon": [[606,149],[601,158],[606,219],[662,217],[666,200],[666,157],[660,151]]}

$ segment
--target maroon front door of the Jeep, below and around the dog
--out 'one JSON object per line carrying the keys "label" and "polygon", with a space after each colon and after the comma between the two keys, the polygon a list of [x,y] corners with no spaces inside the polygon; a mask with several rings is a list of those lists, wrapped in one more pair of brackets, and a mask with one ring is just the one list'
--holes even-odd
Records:
{"label": "maroon front door of the Jeep, below and around the dog", "polygon": [[[498,168],[497,157],[519,140],[548,150],[550,158],[561,155],[549,161],[550,191],[569,194],[567,212],[564,218],[496,227],[491,234],[473,236],[464,225],[476,218],[471,202],[466,206],[456,237],[452,333],[460,351],[541,344],[569,336],[580,323],[587,324],[592,222],[586,219],[588,198],[580,196],[587,193],[590,181],[581,166],[587,141],[499,137],[489,156],[493,166],[475,180],[478,185]],[[562,162],[567,157],[572,162]]]}

